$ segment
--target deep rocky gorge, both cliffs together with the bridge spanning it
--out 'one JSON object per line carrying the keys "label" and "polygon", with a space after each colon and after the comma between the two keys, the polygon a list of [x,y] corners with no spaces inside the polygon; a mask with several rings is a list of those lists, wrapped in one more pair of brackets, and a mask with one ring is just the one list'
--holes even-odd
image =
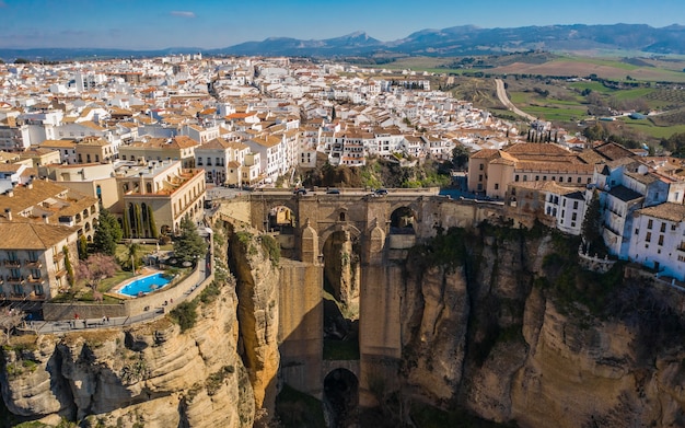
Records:
{"label": "deep rocky gorge, both cliffs together with the bridge spanning it", "polygon": [[321,426],[314,403],[346,427],[685,424],[683,293],[622,263],[584,270],[579,241],[499,207],[337,198],[224,204],[229,275],[185,329],[13,337],[13,420]]}

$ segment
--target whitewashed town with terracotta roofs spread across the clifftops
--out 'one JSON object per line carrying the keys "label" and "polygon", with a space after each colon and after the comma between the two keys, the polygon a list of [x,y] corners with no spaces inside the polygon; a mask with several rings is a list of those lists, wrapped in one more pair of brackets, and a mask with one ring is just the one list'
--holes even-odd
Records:
{"label": "whitewashed town with terracotta roofs spread across the clifftops", "polygon": [[526,142],[429,78],[199,54],[1,65],[1,298],[45,301],[69,287],[78,241],[92,241],[103,209],[126,239],[156,240],[201,219],[208,187],[293,186],[295,167],[322,160],[451,161],[456,147],[472,153],[466,197],[579,235],[596,195],[609,254],[685,280],[678,160],[544,122],[531,128],[548,142]]}

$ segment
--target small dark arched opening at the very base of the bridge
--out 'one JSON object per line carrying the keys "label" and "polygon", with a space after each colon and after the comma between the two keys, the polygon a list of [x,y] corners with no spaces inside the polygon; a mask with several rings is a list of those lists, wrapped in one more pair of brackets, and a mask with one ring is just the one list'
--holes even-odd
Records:
{"label": "small dark arched opening at the very base of the bridge", "polygon": [[347,369],[335,369],[324,379],[324,406],[329,427],[359,425],[359,380]]}

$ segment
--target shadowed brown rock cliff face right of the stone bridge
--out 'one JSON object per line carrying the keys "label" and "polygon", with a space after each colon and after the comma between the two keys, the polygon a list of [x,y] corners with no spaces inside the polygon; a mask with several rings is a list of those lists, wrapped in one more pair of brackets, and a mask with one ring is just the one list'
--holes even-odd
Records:
{"label": "shadowed brown rock cliff face right of the stone bridge", "polygon": [[572,245],[490,232],[461,236],[461,262],[406,264],[403,377],[415,396],[522,427],[685,424],[681,294],[573,277]]}

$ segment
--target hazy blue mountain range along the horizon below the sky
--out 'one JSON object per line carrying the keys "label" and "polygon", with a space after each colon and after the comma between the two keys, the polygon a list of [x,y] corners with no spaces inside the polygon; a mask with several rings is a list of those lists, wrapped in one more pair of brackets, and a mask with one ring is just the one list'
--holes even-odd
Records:
{"label": "hazy blue mountain range along the horizon below the sky", "polygon": [[643,24],[547,25],[516,28],[479,28],[473,25],[422,30],[405,38],[381,42],[364,32],[327,39],[303,41],[269,37],[220,49],[167,48],[160,50],[117,49],[0,49],[0,57],[59,60],[70,58],[143,57],[202,51],[207,55],[344,57],[375,54],[463,56],[524,50],[641,51],[685,55],[685,26],[654,28]]}

